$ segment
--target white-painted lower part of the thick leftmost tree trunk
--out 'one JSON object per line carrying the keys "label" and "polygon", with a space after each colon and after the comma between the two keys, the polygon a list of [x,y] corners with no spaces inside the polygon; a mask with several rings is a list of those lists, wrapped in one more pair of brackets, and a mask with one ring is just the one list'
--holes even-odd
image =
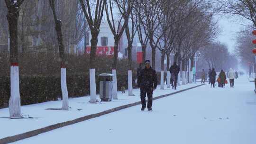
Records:
{"label": "white-painted lower part of the thick leftmost tree trunk", "polygon": [[10,89],[11,89],[10,99],[9,99],[10,117],[21,117],[18,64],[10,67]]}

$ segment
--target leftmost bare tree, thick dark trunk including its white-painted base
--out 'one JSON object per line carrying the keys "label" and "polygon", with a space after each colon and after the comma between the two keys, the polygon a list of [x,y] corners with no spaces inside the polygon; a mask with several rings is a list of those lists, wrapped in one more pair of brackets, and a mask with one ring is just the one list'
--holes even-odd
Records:
{"label": "leftmost bare tree, thick dark trunk including its white-painted base", "polygon": [[10,63],[11,63],[11,96],[9,99],[10,117],[21,117],[18,72],[18,17],[24,0],[5,0],[7,20],[10,35]]}

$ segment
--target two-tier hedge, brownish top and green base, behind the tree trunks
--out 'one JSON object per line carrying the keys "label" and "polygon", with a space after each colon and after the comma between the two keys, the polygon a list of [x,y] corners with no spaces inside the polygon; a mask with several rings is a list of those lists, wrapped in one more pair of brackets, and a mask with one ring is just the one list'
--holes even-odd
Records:
{"label": "two-tier hedge, brownish top and green base, behind the tree trunks", "polygon": [[[19,78],[21,104],[41,103],[61,98],[59,54],[24,53],[19,55]],[[0,53],[0,107],[8,105],[10,96],[9,53]],[[96,57],[96,86],[99,90],[100,73],[111,73],[113,59],[107,56]],[[90,94],[90,55],[67,54],[67,87],[69,97]],[[128,89],[128,60],[119,60],[117,66],[118,90]],[[133,63],[133,83],[136,79],[136,63]],[[97,91],[99,92],[99,91]]]}

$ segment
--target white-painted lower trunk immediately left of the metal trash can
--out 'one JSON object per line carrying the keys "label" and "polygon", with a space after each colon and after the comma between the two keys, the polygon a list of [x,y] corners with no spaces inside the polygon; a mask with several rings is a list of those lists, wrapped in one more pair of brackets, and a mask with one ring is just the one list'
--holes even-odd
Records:
{"label": "white-painted lower trunk immediately left of the metal trash can", "polygon": [[97,103],[95,69],[90,69],[90,103]]}

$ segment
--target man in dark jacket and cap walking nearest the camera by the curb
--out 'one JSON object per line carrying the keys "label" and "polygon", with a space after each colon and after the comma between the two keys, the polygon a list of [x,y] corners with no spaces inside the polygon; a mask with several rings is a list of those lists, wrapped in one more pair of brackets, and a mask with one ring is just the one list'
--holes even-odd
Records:
{"label": "man in dark jacket and cap walking nearest the camera by the curb", "polygon": [[150,66],[149,60],[145,61],[145,68],[141,70],[137,83],[140,88],[141,110],[143,111],[146,108],[147,95],[147,109],[152,111],[153,91],[157,87],[157,77],[155,70]]}

